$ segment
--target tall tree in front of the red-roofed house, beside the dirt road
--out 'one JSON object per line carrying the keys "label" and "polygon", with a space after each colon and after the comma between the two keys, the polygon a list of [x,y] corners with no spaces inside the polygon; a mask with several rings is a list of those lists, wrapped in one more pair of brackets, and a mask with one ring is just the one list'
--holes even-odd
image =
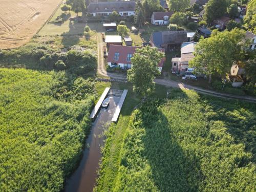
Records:
{"label": "tall tree in front of the red-roofed house, beside the dirt road", "polygon": [[160,74],[157,66],[164,53],[150,46],[136,49],[132,57],[132,69],[127,72],[127,79],[133,83],[133,90],[146,96],[155,88],[154,79]]}

